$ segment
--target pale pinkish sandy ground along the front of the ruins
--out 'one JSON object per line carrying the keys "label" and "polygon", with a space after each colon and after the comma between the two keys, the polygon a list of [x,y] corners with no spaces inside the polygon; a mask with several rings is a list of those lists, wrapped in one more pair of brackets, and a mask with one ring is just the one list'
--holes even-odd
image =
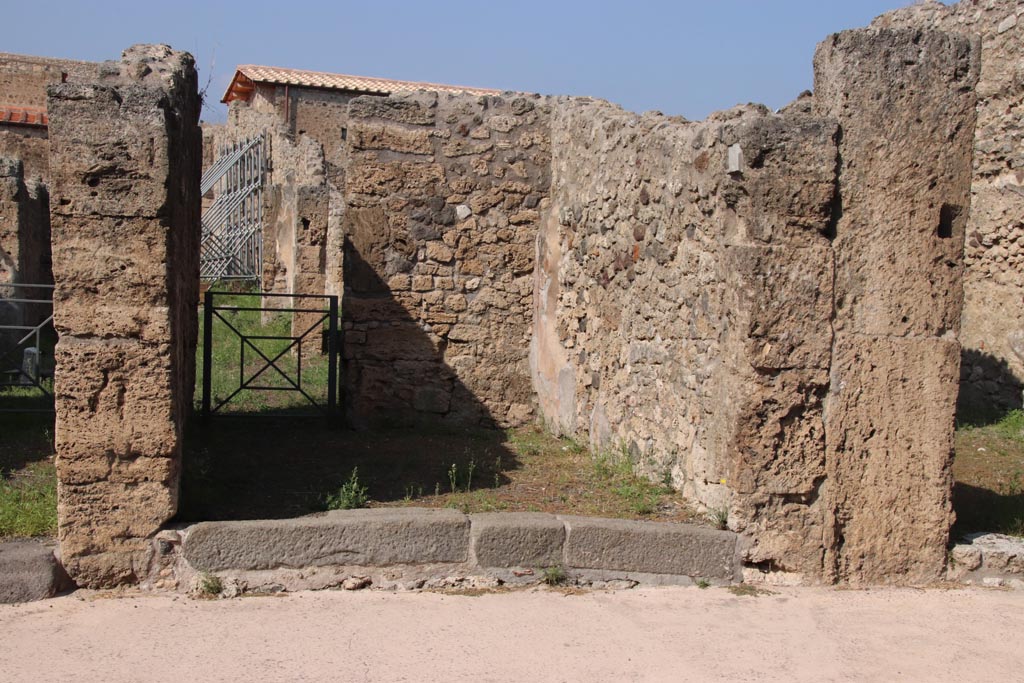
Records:
{"label": "pale pinkish sandy ground along the front of the ruins", "polygon": [[0,605],[3,681],[1019,681],[1024,592],[81,593]]}

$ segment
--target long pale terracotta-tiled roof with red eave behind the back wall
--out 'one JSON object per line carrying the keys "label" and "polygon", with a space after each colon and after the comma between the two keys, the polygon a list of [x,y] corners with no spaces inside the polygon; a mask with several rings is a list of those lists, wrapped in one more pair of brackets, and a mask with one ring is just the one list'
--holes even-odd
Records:
{"label": "long pale terracotta-tiled roof with red eave behind the back wall", "polygon": [[282,69],[279,67],[259,67],[242,65],[234,72],[231,84],[227,86],[221,101],[232,99],[248,99],[253,90],[253,83],[275,83],[280,85],[295,85],[305,88],[326,88],[329,90],[346,90],[367,94],[387,95],[391,93],[416,92],[430,90],[434,92],[463,92],[471,95],[497,95],[501,90],[489,88],[467,88],[461,85],[442,85],[440,83],[420,83],[416,81],[393,81],[386,78],[368,78],[366,76],[349,76],[347,74],[327,74],[317,71],[300,69]]}

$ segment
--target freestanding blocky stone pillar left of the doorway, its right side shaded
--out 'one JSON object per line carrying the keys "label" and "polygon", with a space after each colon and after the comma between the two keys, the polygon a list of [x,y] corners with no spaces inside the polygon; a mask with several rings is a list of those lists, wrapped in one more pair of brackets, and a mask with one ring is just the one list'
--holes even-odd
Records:
{"label": "freestanding blocky stone pillar left of the doorway, its right side shaded", "polygon": [[49,89],[58,521],[80,586],[136,581],[176,512],[195,383],[200,98],[137,45]]}

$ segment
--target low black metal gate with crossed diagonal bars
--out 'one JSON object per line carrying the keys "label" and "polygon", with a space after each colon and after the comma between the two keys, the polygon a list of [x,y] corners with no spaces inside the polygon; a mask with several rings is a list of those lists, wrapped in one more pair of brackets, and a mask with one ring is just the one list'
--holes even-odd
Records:
{"label": "low black metal gate with crossed diagonal bars", "polygon": [[[253,304],[248,302],[256,301]],[[282,306],[266,305],[267,299],[287,300]],[[220,303],[218,303],[218,301]],[[248,317],[247,317],[248,314]],[[290,315],[288,330],[267,330],[253,325],[256,316]],[[243,325],[250,321],[249,325]],[[238,375],[227,357],[214,357],[215,347],[225,350],[224,340],[215,344],[215,328],[230,341],[238,341]],[[313,348],[310,349],[310,344]],[[223,354],[221,354],[223,355]],[[323,374],[327,361],[326,396],[304,384],[303,358],[312,358]],[[229,374],[229,375],[228,375]],[[227,384],[227,377],[237,377]],[[307,373],[308,376],[308,373]],[[214,380],[218,387],[215,391]],[[300,403],[315,409],[314,415],[330,420],[338,417],[338,297],[311,294],[269,294],[207,291],[203,299],[203,403],[204,421],[215,415],[240,416],[252,413],[228,409],[246,392],[292,392]],[[261,412],[264,417],[280,413]],[[297,414],[287,413],[288,417]]]}

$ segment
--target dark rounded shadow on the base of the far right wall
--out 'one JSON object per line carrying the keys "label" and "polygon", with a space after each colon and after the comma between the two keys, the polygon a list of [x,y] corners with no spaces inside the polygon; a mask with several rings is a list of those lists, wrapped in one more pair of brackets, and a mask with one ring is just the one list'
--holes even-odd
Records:
{"label": "dark rounded shadow on the base of the far right wall", "polygon": [[1024,407],[1024,386],[1002,358],[973,348],[961,354],[956,424],[982,427]]}

